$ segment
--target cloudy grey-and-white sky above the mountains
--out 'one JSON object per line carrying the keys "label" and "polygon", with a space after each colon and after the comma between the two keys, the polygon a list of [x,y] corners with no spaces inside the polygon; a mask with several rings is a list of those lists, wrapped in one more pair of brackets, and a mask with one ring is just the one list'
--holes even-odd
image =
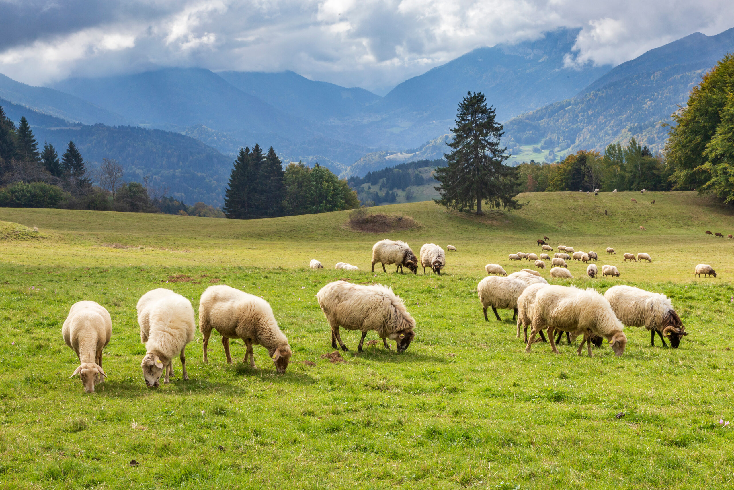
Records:
{"label": "cloudy grey-and-white sky above the mountains", "polygon": [[734,26],[732,0],[0,0],[0,73],[28,84],[167,66],[293,70],[384,94],[479,46],[580,27],[624,62]]}

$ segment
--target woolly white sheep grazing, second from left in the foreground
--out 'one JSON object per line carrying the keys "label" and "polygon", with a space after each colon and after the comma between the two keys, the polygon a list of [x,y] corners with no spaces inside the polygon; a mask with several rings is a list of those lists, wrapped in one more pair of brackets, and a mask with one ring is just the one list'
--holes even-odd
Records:
{"label": "woolly white sheep grazing, second from left in the foreground", "polygon": [[145,357],[140,367],[148,388],[160,386],[161,374],[165,370],[164,383],[173,376],[173,356],[179,355],[183,379],[186,372],[186,344],[194,339],[194,309],[191,301],[170,289],[153,289],[137,302],[140,340],[145,344]]}

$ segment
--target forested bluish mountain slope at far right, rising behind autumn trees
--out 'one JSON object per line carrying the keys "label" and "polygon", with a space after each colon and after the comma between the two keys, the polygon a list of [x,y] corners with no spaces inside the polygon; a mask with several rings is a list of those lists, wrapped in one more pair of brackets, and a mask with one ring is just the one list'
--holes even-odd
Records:
{"label": "forested bluish mountain slope at far right, rising behind autumn trees", "polygon": [[[578,96],[520,115],[505,124],[506,143],[553,148],[556,154],[603,150],[634,137],[653,150],[664,147],[670,115],[685,105],[701,76],[734,51],[734,29],[696,33],[622,63]],[[513,153],[522,159],[514,148]]]}

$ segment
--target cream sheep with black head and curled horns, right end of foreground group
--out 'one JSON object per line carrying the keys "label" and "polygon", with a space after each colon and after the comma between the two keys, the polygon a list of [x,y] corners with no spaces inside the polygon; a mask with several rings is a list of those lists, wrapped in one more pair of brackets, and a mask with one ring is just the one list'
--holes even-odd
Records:
{"label": "cream sheep with black head and curled horns, right end of foreground group", "polygon": [[614,286],[607,289],[604,298],[625,326],[645,327],[650,331],[650,347],[655,347],[655,332],[663,347],[668,347],[664,339],[668,337],[674,349],[680,345],[680,339],[688,335],[666,295],[631,286]]}

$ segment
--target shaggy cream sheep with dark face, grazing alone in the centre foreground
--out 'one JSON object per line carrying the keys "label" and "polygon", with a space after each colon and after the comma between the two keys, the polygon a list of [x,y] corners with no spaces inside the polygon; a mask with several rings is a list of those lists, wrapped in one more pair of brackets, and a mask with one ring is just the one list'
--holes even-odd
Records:
{"label": "shaggy cream sheep with dark face, grazing alone in the centre foreground", "polygon": [[382,284],[362,286],[346,281],[335,281],[322,287],[316,293],[316,299],[319,300],[321,311],[331,326],[333,348],[337,348],[338,340],[341,350],[349,350],[344,342],[341,342],[340,326],[347,330],[362,332],[362,339],[357,347],[360,352],[367,332],[371,330],[382,337],[382,343],[388,350],[390,346],[387,338],[394,340],[398,353],[404,352],[413,341],[415,320],[390,287]]}

